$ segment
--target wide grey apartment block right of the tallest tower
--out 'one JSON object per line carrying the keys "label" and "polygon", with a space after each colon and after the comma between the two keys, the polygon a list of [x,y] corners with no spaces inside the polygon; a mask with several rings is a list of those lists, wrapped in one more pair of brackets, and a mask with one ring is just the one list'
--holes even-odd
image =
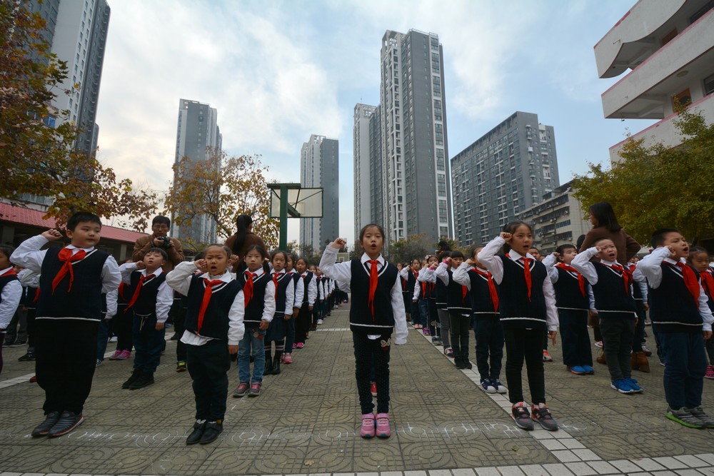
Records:
{"label": "wide grey apartment block right of the tallest tower", "polygon": [[517,111],[451,159],[456,239],[486,243],[559,185],[553,126]]}

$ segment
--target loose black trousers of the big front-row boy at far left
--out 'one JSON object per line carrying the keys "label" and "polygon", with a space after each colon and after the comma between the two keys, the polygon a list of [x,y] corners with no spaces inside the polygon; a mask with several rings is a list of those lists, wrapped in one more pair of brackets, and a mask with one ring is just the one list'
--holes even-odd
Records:
{"label": "loose black trousers of the big front-row boy at far left", "polygon": [[96,320],[37,319],[35,373],[49,412],[79,415],[96,368]]}

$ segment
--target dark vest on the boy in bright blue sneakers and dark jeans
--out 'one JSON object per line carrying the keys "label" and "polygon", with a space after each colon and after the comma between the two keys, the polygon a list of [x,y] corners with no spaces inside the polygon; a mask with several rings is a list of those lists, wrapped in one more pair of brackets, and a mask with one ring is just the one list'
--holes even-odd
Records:
{"label": "dark vest on the boy in bright blue sneakers and dark jeans", "polygon": [[593,263],[598,273],[598,284],[593,285],[595,309],[600,318],[618,317],[634,319],[635,300],[630,289],[625,290],[625,278],[618,270],[603,263]]}

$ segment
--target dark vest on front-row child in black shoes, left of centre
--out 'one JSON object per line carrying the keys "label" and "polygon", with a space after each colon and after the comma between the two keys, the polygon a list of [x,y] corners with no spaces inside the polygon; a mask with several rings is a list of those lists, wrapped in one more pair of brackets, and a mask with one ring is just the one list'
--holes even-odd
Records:
{"label": "dark vest on front-row child in black shoes, left of centre", "polygon": [[[228,313],[241,289],[241,283],[237,280],[213,287],[211,300],[208,301],[208,307],[203,314],[200,335],[213,339],[228,339]],[[205,280],[199,275],[191,276],[191,285],[188,287],[188,296],[186,297],[188,300],[186,330],[193,334],[198,334],[198,313],[201,310],[205,290]]]}

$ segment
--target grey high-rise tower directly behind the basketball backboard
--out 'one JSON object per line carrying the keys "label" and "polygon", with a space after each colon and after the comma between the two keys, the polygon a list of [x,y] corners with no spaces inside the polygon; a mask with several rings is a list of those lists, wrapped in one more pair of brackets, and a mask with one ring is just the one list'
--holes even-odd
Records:
{"label": "grey high-rise tower directly behind the basketball backboard", "polygon": [[300,221],[300,244],[323,250],[339,235],[340,150],[337,139],[311,135],[300,151],[300,185],[323,188],[322,218]]}

